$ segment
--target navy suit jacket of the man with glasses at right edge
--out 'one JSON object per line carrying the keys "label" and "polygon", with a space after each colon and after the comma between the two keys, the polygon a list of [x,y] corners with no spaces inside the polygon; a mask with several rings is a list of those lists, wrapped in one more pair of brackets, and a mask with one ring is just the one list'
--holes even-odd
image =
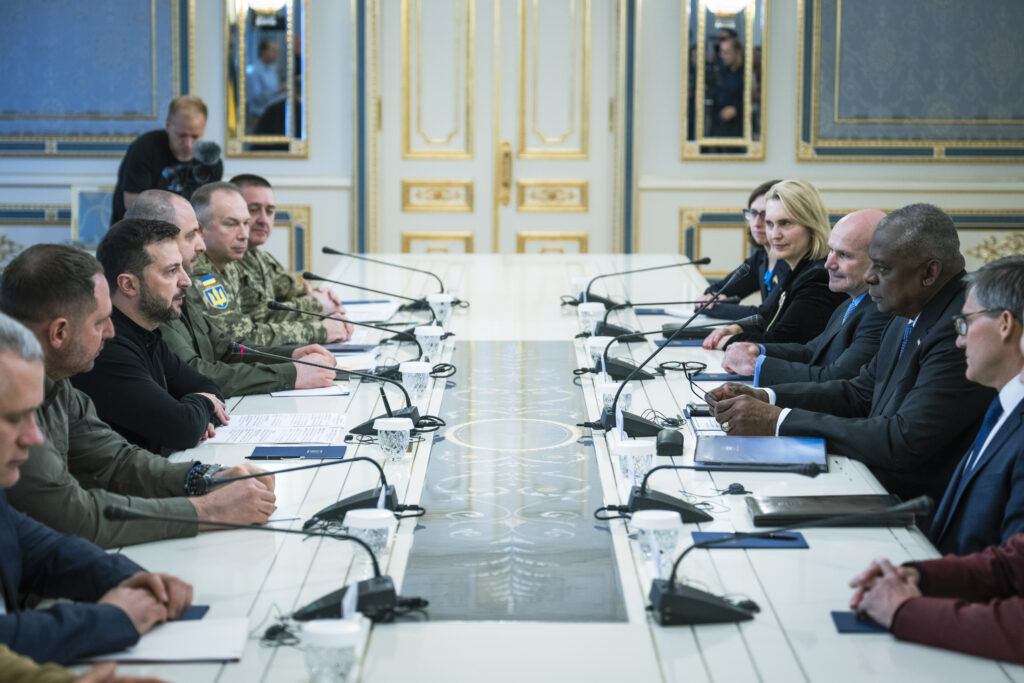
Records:
{"label": "navy suit jacket of the man with glasses at right edge", "polygon": [[978,553],[1024,531],[1024,401],[1007,416],[961,489],[967,457],[932,521],[929,537],[942,553]]}

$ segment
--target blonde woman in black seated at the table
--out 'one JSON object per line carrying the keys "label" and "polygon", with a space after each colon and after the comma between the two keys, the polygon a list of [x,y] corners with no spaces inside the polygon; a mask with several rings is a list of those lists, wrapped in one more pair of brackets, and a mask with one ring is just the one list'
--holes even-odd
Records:
{"label": "blonde woman in black seated at the table", "polygon": [[703,341],[705,348],[724,349],[734,341],[804,343],[820,333],[845,295],[828,289],[825,256],[828,255],[828,212],[814,185],[805,180],[783,180],[765,196],[765,225],[769,246],[790,272],[775,289],[778,298],[761,305],[763,330],[738,325],[717,328]]}

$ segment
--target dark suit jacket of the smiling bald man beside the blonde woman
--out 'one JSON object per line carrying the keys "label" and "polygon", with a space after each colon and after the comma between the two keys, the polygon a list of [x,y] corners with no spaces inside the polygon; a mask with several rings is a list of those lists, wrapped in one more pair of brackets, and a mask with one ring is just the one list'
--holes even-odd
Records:
{"label": "dark suit jacket of the smiling bald man beside the blonde woman", "polygon": [[865,294],[850,318],[843,316],[851,299],[837,308],[824,332],[807,342],[765,344],[765,359],[758,381],[761,386],[786,382],[826,382],[856,377],[860,367],[879,350],[882,330],[892,317],[879,311]]}

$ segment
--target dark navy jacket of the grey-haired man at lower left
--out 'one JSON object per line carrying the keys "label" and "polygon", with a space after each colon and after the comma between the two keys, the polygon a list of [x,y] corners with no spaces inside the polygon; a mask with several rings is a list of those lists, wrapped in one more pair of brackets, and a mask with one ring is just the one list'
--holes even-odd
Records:
{"label": "dark navy jacket of the grey-haired man at lower left", "polygon": [[[138,632],[128,614],[90,603],[141,569],[123,555],[108,555],[85,539],[27,517],[0,492],[0,582],[7,604],[7,613],[0,614],[0,643],[15,652],[66,664],[134,645]],[[24,593],[88,602],[20,610]]]}

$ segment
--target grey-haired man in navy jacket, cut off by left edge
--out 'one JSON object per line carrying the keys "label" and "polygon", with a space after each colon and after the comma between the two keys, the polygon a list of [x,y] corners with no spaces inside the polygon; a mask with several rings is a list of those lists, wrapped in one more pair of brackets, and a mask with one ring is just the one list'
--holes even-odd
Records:
{"label": "grey-haired man in navy jacket, cut off by left edge", "polygon": [[[30,449],[43,442],[35,420],[43,373],[39,342],[0,314],[0,489],[14,485]],[[2,490],[0,577],[0,643],[37,661],[63,664],[123,649],[191,603],[188,584],[57,533],[7,505]],[[27,593],[76,602],[22,609]]]}

